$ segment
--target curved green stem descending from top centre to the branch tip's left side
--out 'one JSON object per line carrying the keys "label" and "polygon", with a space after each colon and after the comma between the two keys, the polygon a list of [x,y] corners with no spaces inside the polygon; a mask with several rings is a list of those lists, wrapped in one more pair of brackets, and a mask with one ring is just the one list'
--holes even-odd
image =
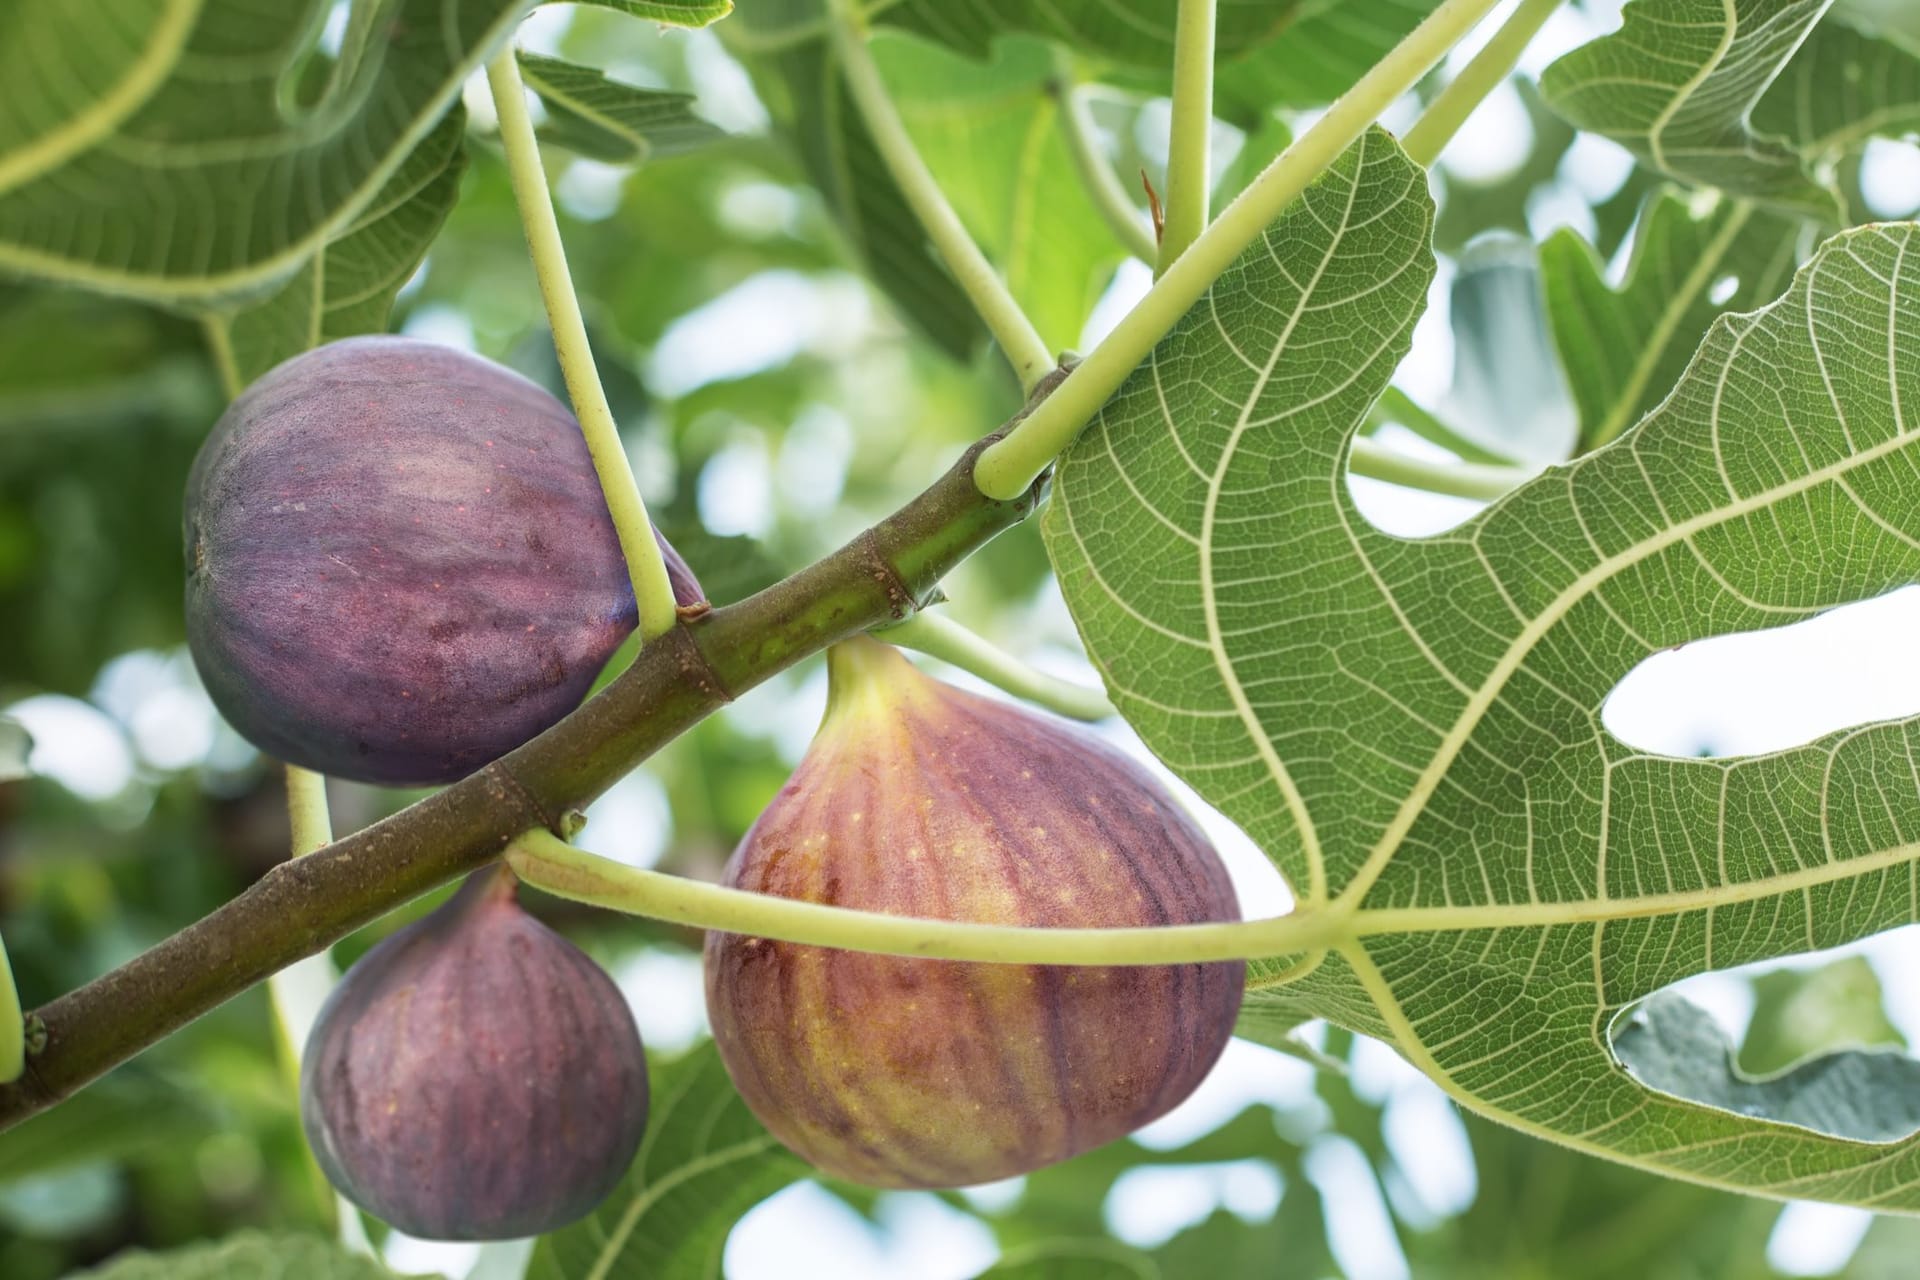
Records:
{"label": "curved green stem descending from top centre to the branch tip's left side", "polygon": [[1031,393],[1041,378],[1052,372],[1052,351],[1039,330],[1033,328],[1033,320],[1027,319],[1020,301],[1014,299],[1012,290],[1000,280],[993,263],[981,253],[973,236],[968,234],[966,225],[960,223],[960,215],[954,213],[947,194],[941,192],[941,184],[933,178],[933,171],[927,169],[927,161],[922,159],[920,150],[914,146],[914,138],[906,132],[906,123],[893,106],[893,98],[887,96],[879,65],[866,46],[866,23],[852,0],[831,0],[828,12],[831,15],[833,52],[839,56],[841,75],[847,77],[847,90],[852,94],[852,102],[860,109],[860,119],[866,121],[866,129],[874,136],[874,146],[879,150],[887,173],[900,188],[900,194],[906,196],[906,203],[912,207],[914,217],[920,219],[920,226],[927,232],[933,248],[939,249],[954,280],[966,290],[973,311],[979,313],[987,330],[993,332],[993,340],[1000,344],[1000,351],[1006,353],[1008,363],[1020,376],[1020,390]]}

